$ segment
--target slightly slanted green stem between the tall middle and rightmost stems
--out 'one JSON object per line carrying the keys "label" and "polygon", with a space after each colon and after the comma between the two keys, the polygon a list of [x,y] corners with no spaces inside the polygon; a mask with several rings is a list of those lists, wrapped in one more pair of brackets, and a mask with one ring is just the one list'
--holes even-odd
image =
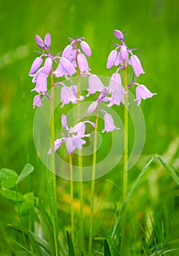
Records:
{"label": "slightly slanted green stem between the tall middle and rightmost stems", "polygon": [[92,252],[92,241],[93,241],[93,217],[94,217],[94,189],[95,189],[95,176],[96,176],[96,149],[97,149],[97,130],[99,121],[99,105],[96,116],[96,124],[94,128],[94,157],[91,177],[91,205],[90,205],[90,227],[89,227],[89,244],[88,244],[88,255],[91,256]]}

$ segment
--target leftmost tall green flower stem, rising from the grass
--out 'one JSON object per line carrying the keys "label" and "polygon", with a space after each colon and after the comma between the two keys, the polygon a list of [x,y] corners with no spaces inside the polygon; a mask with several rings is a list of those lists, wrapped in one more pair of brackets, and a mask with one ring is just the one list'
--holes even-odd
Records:
{"label": "leftmost tall green flower stem, rising from the grass", "polygon": [[55,255],[58,256],[58,219],[57,219],[57,200],[56,200],[56,159],[54,152],[54,141],[55,141],[55,118],[54,118],[54,90],[53,90],[53,71],[50,72],[50,87],[51,87],[51,100],[50,100],[50,144],[51,144],[51,162],[49,170],[49,183],[50,183],[50,198],[49,200],[52,203],[52,207],[50,208],[52,219],[53,219],[53,238],[54,238],[54,246],[55,246]]}

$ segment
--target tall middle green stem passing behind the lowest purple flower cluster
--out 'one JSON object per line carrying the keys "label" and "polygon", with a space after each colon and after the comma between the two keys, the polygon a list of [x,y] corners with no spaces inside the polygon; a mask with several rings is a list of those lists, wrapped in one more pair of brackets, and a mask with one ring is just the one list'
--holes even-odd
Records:
{"label": "tall middle green stem passing behind the lowest purple flower cluster", "polygon": [[[76,42],[77,49],[77,42]],[[80,69],[77,63],[77,53],[76,53],[76,64],[77,64],[77,116],[80,116]],[[83,157],[82,152],[79,151],[77,155],[78,166],[80,167],[80,182],[79,182],[79,193],[80,193],[80,244],[83,253],[85,252],[85,242],[84,242],[84,213],[83,213]]]}

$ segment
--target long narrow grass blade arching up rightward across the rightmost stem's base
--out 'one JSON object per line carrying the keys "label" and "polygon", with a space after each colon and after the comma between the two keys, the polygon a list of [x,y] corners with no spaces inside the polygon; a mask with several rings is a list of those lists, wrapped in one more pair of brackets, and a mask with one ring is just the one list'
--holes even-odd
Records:
{"label": "long narrow grass blade arching up rightward across the rightmost stem's base", "polygon": [[156,158],[156,156],[153,156],[153,157],[151,158],[151,160],[145,165],[145,167],[142,168],[142,171],[141,171],[140,175],[137,177],[137,179],[136,179],[136,181],[134,182],[132,188],[130,189],[128,195],[126,196],[126,199],[125,199],[124,202],[123,202],[123,206],[122,206],[122,208],[121,208],[121,211],[119,212],[118,217],[117,217],[117,219],[116,219],[116,221],[115,221],[115,225],[114,225],[114,228],[113,228],[113,233],[112,233],[112,236],[111,236],[110,240],[113,239],[113,236],[114,236],[114,234],[115,234],[115,230],[116,230],[117,227],[118,227],[118,224],[119,224],[119,222],[120,222],[120,220],[121,220],[122,214],[123,214],[123,212],[126,210],[127,203],[129,203],[129,200],[131,199],[131,197],[132,197],[132,195],[133,195],[133,193],[134,193],[134,190],[136,189],[136,187],[137,187],[138,184],[140,183],[140,180],[141,180],[142,176],[145,174],[145,171],[148,169],[148,166],[151,165],[151,162],[153,162],[153,159],[155,159],[155,158]]}

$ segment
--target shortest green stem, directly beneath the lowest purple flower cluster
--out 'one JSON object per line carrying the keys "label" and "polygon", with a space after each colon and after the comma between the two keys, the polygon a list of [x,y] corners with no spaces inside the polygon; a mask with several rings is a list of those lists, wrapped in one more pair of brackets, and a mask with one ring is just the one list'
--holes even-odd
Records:
{"label": "shortest green stem, directly beneath the lowest purple flower cluster", "polygon": [[73,165],[72,154],[69,154],[69,168],[70,168],[70,212],[71,212],[71,226],[72,226],[72,241],[75,238],[75,225],[74,225],[74,206],[73,206]]}

